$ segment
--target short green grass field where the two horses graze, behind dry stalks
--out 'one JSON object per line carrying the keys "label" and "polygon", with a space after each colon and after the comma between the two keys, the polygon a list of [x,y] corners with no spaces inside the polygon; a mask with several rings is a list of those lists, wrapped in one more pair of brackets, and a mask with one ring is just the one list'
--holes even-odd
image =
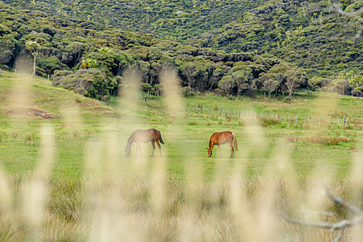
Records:
{"label": "short green grass field where the two horses graze, behind dry stalks", "polygon": [[[32,80],[30,86],[31,103],[39,109],[46,110],[61,115],[63,111],[73,115],[77,113],[77,120],[65,120],[61,118],[54,120],[42,120],[35,118],[11,118],[4,113],[8,106],[12,106],[10,93],[17,93],[14,90],[16,82],[21,79],[13,77],[12,73],[3,73],[0,82],[0,155],[1,163],[9,173],[23,174],[35,167],[39,153],[39,127],[41,124],[50,123],[55,129],[56,142],[56,162],[54,167],[55,178],[71,179],[82,176],[84,152],[88,140],[101,138],[104,133],[109,131],[118,133],[116,137],[120,143],[119,156],[124,156],[123,147],[128,136],[132,133],[129,127],[124,127],[128,118],[123,119],[122,115],[127,111],[119,111],[118,100],[111,100],[109,105],[96,100],[90,100],[81,95],[54,88],[49,82],[41,78]],[[15,94],[16,95],[16,94]],[[146,95],[143,93],[143,95]],[[230,130],[236,133],[240,151],[236,153],[236,159],[230,162],[245,162],[249,164],[250,175],[261,174],[263,167],[268,163],[274,148],[286,142],[288,136],[297,137],[297,142],[292,144],[294,149],[291,152],[292,162],[298,174],[306,176],[310,169],[315,167],[316,162],[324,162],[328,169],[337,171],[339,176],[344,176],[349,170],[353,151],[357,147],[357,141],[362,135],[359,130],[362,124],[350,124],[351,129],[343,129],[340,125],[327,125],[326,123],[309,125],[309,117],[313,117],[328,122],[328,115],[335,115],[341,118],[343,115],[352,121],[363,121],[362,110],[363,100],[355,97],[346,97],[331,93],[313,93],[310,95],[299,94],[292,103],[283,100],[268,100],[261,98],[251,99],[244,97],[240,100],[216,95],[194,96],[183,98],[183,109],[187,112],[183,118],[174,118],[173,111],[167,111],[164,97],[150,97],[148,106],[140,104],[136,110],[137,122],[131,120],[131,127],[146,129],[149,127],[161,131],[167,145],[162,146],[163,151],[167,151],[168,167],[171,176],[182,177],[183,175],[183,156],[189,153],[189,159],[194,160],[198,165],[202,165],[205,174],[213,171],[215,162],[218,162],[218,150],[214,149],[214,157],[207,158],[207,150],[210,136],[214,131]],[[16,98],[16,97],[14,97]],[[203,113],[196,113],[198,106],[204,105]],[[210,111],[209,111],[210,107]],[[219,115],[223,108],[225,115]],[[122,109],[122,108],[121,108]],[[231,117],[229,111],[232,110]],[[184,110],[185,111],[185,110]],[[236,111],[242,111],[241,117],[235,117]],[[245,156],[243,151],[248,143],[251,142],[247,137],[245,126],[245,116],[249,111],[252,122],[263,124],[261,128],[261,145],[254,147],[257,154]],[[254,112],[257,112],[257,119],[254,119]],[[72,114],[73,113],[73,114]],[[261,115],[268,118],[261,120]],[[273,119],[270,115],[273,115]],[[270,122],[280,120],[280,115],[288,115],[292,122]],[[120,116],[120,117],[117,117]],[[115,118],[114,118],[115,117]],[[129,117],[129,115],[127,115]],[[299,123],[296,123],[296,117]],[[306,118],[304,123],[304,118]],[[350,121],[350,120],[348,120]],[[79,122],[79,123],[75,123]],[[113,126],[108,124],[112,123]],[[357,130],[358,129],[358,130]],[[339,142],[337,145],[314,144],[306,140],[315,133],[322,136],[347,136],[348,142]],[[17,134],[16,138],[14,137]],[[34,136],[31,142],[25,142],[26,136]],[[353,137],[356,136],[353,140]],[[352,141],[353,140],[353,141]],[[149,155],[151,145],[145,145]],[[134,148],[132,149],[132,152]],[[222,146],[223,158],[227,159],[230,150],[227,145]],[[153,158],[157,160],[158,158]]]}

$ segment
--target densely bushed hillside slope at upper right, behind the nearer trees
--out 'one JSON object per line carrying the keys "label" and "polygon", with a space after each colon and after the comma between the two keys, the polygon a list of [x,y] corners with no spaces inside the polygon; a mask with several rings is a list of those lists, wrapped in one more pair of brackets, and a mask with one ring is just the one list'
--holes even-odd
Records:
{"label": "densely bushed hillside slope at upper right, behind the nearer trees", "polygon": [[[269,53],[305,68],[311,77],[332,77],[347,70],[363,75],[363,23],[333,12],[332,4],[268,1],[222,28],[194,37],[192,42],[227,52]],[[342,7],[351,12],[362,6],[362,1],[344,1]]]}

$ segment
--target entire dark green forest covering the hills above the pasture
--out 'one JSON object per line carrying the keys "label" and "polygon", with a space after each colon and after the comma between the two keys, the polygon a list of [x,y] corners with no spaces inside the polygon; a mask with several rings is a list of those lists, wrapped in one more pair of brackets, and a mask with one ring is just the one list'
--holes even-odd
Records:
{"label": "entire dark green forest covering the hills above the pasture", "polygon": [[[127,68],[138,68],[145,91],[162,91],[158,73],[165,66],[176,68],[185,95],[215,91],[238,97],[257,91],[291,99],[298,89],[322,89],[363,96],[363,41],[357,35],[362,23],[355,26],[352,19],[359,24],[359,18],[329,10],[327,1],[118,2],[0,1],[1,68],[20,69],[19,57],[33,56],[37,75],[100,100],[117,95]],[[146,5],[148,24],[140,15]],[[344,1],[342,8],[361,5]],[[244,12],[238,12],[241,6]],[[105,10],[125,8],[128,18],[102,19]],[[193,11],[194,17],[185,15],[188,24],[162,24],[157,32],[145,27]],[[223,12],[228,14],[217,20]],[[214,21],[198,26],[195,16],[202,15]],[[170,37],[177,28],[185,35]],[[27,43],[38,46],[37,57]]]}

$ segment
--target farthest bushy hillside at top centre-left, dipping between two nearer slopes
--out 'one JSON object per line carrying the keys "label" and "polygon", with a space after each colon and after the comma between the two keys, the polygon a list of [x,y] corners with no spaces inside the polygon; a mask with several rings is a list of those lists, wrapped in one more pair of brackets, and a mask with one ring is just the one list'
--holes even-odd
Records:
{"label": "farthest bushy hillside at top centre-left, dipping between two nearer slopes", "polygon": [[266,0],[10,0],[13,6],[41,10],[48,15],[79,18],[102,25],[139,31],[162,39],[187,40],[239,19],[243,12]]}

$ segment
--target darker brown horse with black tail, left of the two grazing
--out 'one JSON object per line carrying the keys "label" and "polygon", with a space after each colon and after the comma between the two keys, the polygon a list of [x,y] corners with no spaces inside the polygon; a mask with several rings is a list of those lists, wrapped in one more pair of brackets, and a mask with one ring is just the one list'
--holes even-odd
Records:
{"label": "darker brown horse with black tail, left of the two grazing", "polygon": [[[159,141],[160,143],[165,144],[165,142],[161,138],[160,131],[158,131],[157,129],[145,129],[145,130],[136,129],[136,131],[134,131],[131,134],[129,140],[127,140],[127,145],[124,149],[126,157],[130,156],[131,145],[133,142],[136,142],[136,154],[138,153],[138,150],[140,150],[140,143],[151,142],[153,151],[155,151],[155,142],[156,142],[156,145],[158,145],[159,147],[160,156],[161,156],[161,147]],[[151,154],[151,156],[153,156],[153,153]]]}

